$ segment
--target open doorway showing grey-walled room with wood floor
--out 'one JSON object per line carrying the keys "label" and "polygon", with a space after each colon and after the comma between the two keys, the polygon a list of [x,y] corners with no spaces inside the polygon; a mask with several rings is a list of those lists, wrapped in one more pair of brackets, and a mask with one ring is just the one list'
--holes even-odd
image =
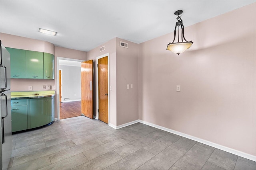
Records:
{"label": "open doorway showing grey-walled room with wood floor", "polygon": [[[57,57],[57,117],[64,119],[81,115],[81,62],[83,60]],[[76,75],[77,71],[79,75]],[[62,81],[60,81],[62,80]],[[61,86],[60,86],[61,84]],[[61,90],[62,89],[62,90]],[[63,114],[62,114],[63,113]]]}

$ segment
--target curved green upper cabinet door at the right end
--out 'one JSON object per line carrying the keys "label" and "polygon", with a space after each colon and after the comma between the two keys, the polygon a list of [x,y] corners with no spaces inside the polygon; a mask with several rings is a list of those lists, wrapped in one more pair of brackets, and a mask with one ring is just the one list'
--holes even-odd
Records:
{"label": "curved green upper cabinet door at the right end", "polygon": [[44,53],[44,79],[54,79],[54,55]]}

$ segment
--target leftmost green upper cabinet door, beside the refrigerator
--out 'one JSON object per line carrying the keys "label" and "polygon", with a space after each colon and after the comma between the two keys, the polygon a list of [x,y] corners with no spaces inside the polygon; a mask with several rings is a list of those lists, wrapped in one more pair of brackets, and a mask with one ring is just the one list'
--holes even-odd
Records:
{"label": "leftmost green upper cabinet door, beside the refrigerator", "polygon": [[26,50],[6,49],[10,53],[11,78],[26,78]]}

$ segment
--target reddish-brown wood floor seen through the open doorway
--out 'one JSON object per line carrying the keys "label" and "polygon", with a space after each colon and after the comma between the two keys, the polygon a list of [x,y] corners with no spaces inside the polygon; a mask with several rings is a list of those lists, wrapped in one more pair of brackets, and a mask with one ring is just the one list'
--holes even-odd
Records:
{"label": "reddish-brown wood floor seen through the open doorway", "polygon": [[60,103],[60,119],[81,115],[81,101]]}

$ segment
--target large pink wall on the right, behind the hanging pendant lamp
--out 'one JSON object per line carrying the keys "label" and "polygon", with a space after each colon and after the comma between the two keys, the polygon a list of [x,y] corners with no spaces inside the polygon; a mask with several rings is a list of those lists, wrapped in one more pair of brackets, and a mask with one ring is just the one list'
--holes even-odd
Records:
{"label": "large pink wall on the right, behind the hanging pendant lamp", "polygon": [[173,33],[141,43],[139,119],[256,155],[255,9],[185,27],[194,44],[179,56]]}

